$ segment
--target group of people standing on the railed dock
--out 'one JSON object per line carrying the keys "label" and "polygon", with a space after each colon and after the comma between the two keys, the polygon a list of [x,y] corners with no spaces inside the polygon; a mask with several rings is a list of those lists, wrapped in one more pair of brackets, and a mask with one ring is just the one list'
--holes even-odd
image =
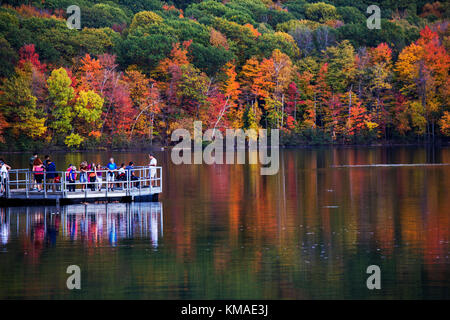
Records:
{"label": "group of people standing on the railed dock", "polygon": [[[154,179],[156,176],[157,160],[149,154],[149,178],[151,179],[151,185],[154,185]],[[56,164],[49,155],[44,157],[44,161],[39,158],[37,153],[29,159],[29,169],[32,172],[32,191],[43,191],[43,181],[47,184],[48,190],[56,191],[57,185],[61,182],[61,177],[56,171]],[[6,184],[8,179],[8,172],[11,167],[7,165],[3,159],[0,159],[0,178],[1,178],[1,193],[6,191]],[[114,161],[114,158],[110,158],[106,166],[102,166],[100,163],[88,163],[82,161],[79,168],[73,164],[69,164],[65,171],[65,178],[67,181],[67,189],[69,192],[76,190],[77,179],[81,190],[84,191],[89,188],[91,191],[102,190],[103,181],[108,191],[114,191],[115,186],[122,186],[127,181],[127,177],[130,177],[132,181],[132,187],[139,187],[139,177],[135,175],[134,162],[130,161],[128,165],[122,163],[120,166]]]}

